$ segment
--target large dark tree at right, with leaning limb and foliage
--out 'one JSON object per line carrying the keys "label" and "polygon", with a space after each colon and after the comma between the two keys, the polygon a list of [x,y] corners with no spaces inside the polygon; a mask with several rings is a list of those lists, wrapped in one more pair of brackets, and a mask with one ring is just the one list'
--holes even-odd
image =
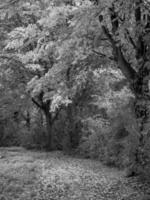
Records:
{"label": "large dark tree at right, with leaning limb and foliage", "polygon": [[[100,40],[107,40],[114,61],[135,95],[134,112],[139,125],[135,163],[149,133],[149,1],[99,1]],[[141,163],[140,163],[141,164]]]}

